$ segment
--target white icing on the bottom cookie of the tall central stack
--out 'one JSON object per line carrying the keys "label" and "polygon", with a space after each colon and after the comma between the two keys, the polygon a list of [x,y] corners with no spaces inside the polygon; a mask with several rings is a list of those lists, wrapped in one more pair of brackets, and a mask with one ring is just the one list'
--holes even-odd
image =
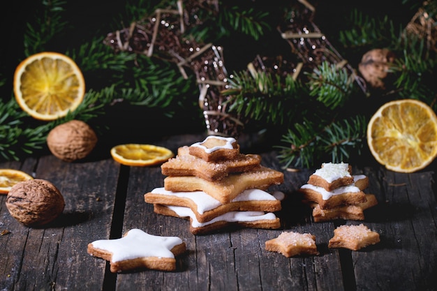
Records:
{"label": "white icing on the bottom cookie of the tall central stack", "polygon": [[217,216],[211,221],[207,221],[205,223],[200,223],[196,218],[194,212],[188,207],[181,206],[170,206],[165,205],[180,217],[189,217],[191,218],[191,226],[192,227],[202,227],[206,225],[210,225],[212,223],[216,223],[217,221],[226,221],[229,223],[238,223],[238,222],[253,222],[253,221],[261,221],[268,220],[274,221],[276,216],[272,212],[265,213],[263,211],[230,211],[221,216]]}

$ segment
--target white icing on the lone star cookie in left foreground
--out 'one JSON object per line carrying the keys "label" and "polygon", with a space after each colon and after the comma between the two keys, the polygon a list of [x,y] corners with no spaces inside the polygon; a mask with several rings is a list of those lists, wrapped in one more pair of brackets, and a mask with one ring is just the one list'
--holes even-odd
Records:
{"label": "white icing on the lone star cookie in left foreground", "polygon": [[112,253],[111,261],[119,262],[145,257],[175,258],[170,250],[182,242],[179,237],[159,237],[134,228],[121,239],[99,239],[91,244]]}

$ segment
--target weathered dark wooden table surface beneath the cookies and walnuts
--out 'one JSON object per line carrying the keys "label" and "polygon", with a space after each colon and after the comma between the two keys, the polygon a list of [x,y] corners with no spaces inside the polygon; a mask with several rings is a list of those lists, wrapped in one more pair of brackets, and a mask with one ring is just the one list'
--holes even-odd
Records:
{"label": "weathered dark wooden table surface beneath the cookies and walnuts", "polygon": [[[176,151],[205,135],[176,135],[154,142]],[[249,150],[249,149],[248,149]],[[244,151],[242,151],[244,152]],[[274,151],[262,164],[281,170]],[[64,195],[66,208],[41,228],[21,225],[0,196],[0,290],[436,290],[437,204],[434,172],[400,174],[380,166],[353,165],[366,174],[379,204],[364,221],[314,223],[311,209],[294,199],[313,170],[288,172],[275,186],[288,195],[279,230],[230,229],[194,236],[189,222],[154,214],[144,194],[163,186],[159,166],[126,167],[110,158],[65,163],[52,155],[0,163],[47,179]],[[331,249],[341,224],[364,223],[380,243],[361,251]],[[119,238],[132,228],[181,237],[187,247],[177,271],[138,270],[112,274],[109,264],[87,253],[96,239]],[[265,251],[283,230],[311,232],[320,255],[286,258]]]}

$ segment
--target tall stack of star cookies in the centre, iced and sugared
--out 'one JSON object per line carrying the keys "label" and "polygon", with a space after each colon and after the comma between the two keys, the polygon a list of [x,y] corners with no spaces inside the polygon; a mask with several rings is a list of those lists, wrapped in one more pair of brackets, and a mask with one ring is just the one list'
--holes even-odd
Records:
{"label": "tall stack of star cookies in the centre, iced and sugared", "polygon": [[241,154],[233,137],[208,136],[180,147],[161,165],[164,186],[145,194],[154,212],[188,218],[193,234],[228,225],[279,228],[283,193],[266,192],[283,183],[283,173],[260,165],[258,155]]}

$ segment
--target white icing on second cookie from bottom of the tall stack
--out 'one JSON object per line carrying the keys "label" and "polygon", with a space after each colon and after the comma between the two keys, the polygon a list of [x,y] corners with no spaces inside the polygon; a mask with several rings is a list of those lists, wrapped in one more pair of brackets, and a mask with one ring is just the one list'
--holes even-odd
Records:
{"label": "white icing on second cookie from bottom of the tall stack", "polygon": [[[205,211],[216,209],[217,207],[223,205],[214,197],[208,195],[203,191],[172,192],[172,191],[165,190],[164,187],[161,187],[161,188],[154,188],[154,190],[152,190],[151,193],[156,193],[160,195],[170,195],[170,196],[187,198],[189,200],[192,200],[197,205],[197,210],[199,214],[204,214]],[[253,201],[253,200],[256,201],[283,200],[284,197],[285,195],[281,191],[276,191],[272,195],[260,189],[248,189],[240,193],[231,202]]]}

